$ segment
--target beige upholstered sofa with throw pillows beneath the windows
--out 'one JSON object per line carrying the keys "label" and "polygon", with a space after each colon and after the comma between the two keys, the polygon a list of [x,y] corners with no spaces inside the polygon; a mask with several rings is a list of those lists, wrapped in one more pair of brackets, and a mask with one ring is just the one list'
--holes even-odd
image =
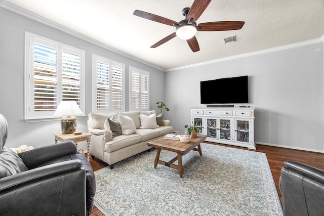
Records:
{"label": "beige upholstered sofa with throw pillows beneath the windows", "polygon": [[112,169],[116,162],[149,150],[147,142],[173,133],[173,126],[169,120],[163,120],[163,114],[156,116],[155,110],[89,113],[88,131],[92,135],[91,156],[108,163]]}

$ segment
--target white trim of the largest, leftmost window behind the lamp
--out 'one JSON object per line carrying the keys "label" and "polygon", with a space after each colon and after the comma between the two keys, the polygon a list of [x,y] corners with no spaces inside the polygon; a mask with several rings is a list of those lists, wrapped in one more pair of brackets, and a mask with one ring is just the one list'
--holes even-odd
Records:
{"label": "white trim of the largest, leftmost window behind the lamp", "polygon": [[[38,122],[38,121],[51,121],[60,119],[60,117],[53,116],[53,112],[49,112],[44,116],[31,116],[30,115],[30,106],[31,98],[33,95],[33,85],[31,85],[31,73],[33,73],[33,63],[31,62],[31,39],[43,40],[45,43],[55,44],[67,48],[71,51],[75,51],[80,55],[80,110],[84,113],[83,115],[75,116],[76,118],[85,118],[85,51],[71,47],[69,45],[62,44],[61,42],[48,39],[30,32],[25,31],[25,63],[24,63],[24,120],[25,122]],[[57,104],[58,105],[58,104]]]}

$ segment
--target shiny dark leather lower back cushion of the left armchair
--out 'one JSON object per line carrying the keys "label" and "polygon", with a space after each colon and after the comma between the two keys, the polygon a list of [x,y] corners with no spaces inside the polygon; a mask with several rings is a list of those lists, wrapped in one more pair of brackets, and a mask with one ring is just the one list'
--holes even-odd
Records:
{"label": "shiny dark leather lower back cushion of the left armchair", "polygon": [[18,154],[7,147],[3,147],[0,153],[0,179],[27,170],[28,168]]}

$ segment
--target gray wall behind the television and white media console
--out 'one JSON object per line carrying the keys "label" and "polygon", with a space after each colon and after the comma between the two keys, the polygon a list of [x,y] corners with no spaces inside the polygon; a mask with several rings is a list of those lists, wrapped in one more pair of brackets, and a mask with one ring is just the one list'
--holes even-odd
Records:
{"label": "gray wall behind the television and white media console", "polygon": [[[324,152],[323,42],[304,44],[168,71],[166,104],[172,125],[183,131],[190,123],[190,107],[206,107],[200,104],[201,80],[249,75],[255,142]],[[224,92],[210,93],[217,94]]]}

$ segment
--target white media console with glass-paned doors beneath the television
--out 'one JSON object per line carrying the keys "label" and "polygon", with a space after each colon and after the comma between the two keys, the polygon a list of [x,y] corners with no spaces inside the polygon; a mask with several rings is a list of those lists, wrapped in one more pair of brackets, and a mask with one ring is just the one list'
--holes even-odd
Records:
{"label": "white media console with glass-paned doors beneath the television", "polygon": [[256,149],[254,108],[191,108],[191,122],[207,135],[206,141]]}

